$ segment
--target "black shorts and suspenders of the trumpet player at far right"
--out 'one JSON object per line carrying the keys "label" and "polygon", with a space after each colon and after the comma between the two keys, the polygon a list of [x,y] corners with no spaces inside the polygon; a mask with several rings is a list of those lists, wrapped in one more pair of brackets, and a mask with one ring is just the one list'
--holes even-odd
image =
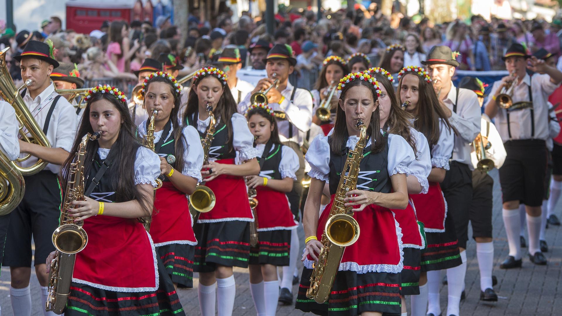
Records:
{"label": "black shorts and suspenders of the trumpet player at far right", "polygon": [[[532,80],[532,78],[531,78]],[[529,101],[533,102],[532,81],[529,80]],[[545,192],[547,169],[546,142],[534,138],[534,111],[531,111],[531,138],[511,139],[509,111],[506,111],[509,141],[504,142],[507,156],[500,168],[503,202],[516,201],[528,206],[541,206]]]}

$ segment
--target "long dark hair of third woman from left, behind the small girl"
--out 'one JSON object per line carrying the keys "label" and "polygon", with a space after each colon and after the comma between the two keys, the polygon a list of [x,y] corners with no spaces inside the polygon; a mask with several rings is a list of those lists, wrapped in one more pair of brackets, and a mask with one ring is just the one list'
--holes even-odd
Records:
{"label": "long dark hair of third woman from left, behind the small girl", "polygon": [[[197,96],[197,93],[195,93],[195,89],[197,89],[197,85],[201,82],[201,80],[203,80],[203,78],[207,78],[207,76],[211,76],[212,78],[219,80],[219,78],[216,78],[214,75],[204,75],[204,76],[200,76],[199,78],[197,78],[197,80],[193,82],[191,89],[189,89],[187,108],[185,109],[182,122],[187,121],[189,115],[193,115],[193,113],[199,111],[199,97]],[[223,84],[223,82],[221,82],[220,80],[219,82]],[[228,84],[223,84],[223,94],[221,94],[219,102],[217,103],[215,110],[213,111],[213,114],[215,115],[215,119],[217,121],[219,121],[219,119],[222,120],[223,123],[226,125],[226,129],[228,129],[228,136],[226,137],[226,143],[228,143],[229,152],[234,149],[232,145],[232,140],[233,140],[232,124],[229,122],[229,120],[232,118],[232,115],[234,115],[234,113],[237,112],[238,112],[238,107],[236,101],[234,101],[232,92],[230,92],[230,88],[228,87]],[[197,120],[197,118],[195,118],[195,120]]]}

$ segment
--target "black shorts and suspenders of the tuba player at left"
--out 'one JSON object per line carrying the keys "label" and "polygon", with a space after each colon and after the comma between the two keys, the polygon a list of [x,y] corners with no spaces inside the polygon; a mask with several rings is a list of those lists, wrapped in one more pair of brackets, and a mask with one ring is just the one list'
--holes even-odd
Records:
{"label": "black shorts and suspenders of the tuba player at left", "polygon": [[[24,97],[26,92],[27,88],[21,91],[21,97]],[[45,135],[60,98],[59,95],[55,96],[48,109],[43,124]],[[34,265],[44,264],[47,256],[55,251],[51,236],[59,225],[58,218],[62,204],[57,175],[52,171],[43,170],[33,175],[26,175],[24,179],[24,198],[9,214],[10,225],[7,227],[3,259],[0,256],[6,267],[31,267],[32,256]],[[35,245],[34,254],[31,252],[32,235]]]}

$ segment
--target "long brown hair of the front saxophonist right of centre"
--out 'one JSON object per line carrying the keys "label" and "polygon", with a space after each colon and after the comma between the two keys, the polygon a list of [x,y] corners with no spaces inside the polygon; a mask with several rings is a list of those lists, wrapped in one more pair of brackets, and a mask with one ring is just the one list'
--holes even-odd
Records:
{"label": "long brown hair of the front saxophonist right of centre", "polygon": [[[351,88],[358,87],[359,85],[369,88],[369,91],[373,93],[373,101],[376,105],[378,100],[377,91],[373,87],[373,84],[364,80],[353,80],[352,82],[347,83],[342,89],[342,94],[339,96],[339,100],[345,102],[347,92],[350,91]],[[371,151],[373,151],[373,153],[382,151],[385,143],[383,134],[380,133],[380,108],[378,105],[377,109],[375,109],[371,115],[371,122],[367,128],[367,134],[371,137]],[[338,155],[345,154],[348,137],[349,133],[347,132],[346,112],[338,105],[336,123],[334,123],[334,133],[328,138],[328,143],[330,144],[332,151]]]}

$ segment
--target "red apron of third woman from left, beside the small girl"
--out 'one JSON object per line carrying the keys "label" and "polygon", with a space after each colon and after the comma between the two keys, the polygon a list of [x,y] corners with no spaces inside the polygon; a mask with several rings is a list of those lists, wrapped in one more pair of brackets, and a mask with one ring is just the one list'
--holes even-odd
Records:
{"label": "red apron of third woman from left, beside the small girl", "polygon": [[[234,164],[234,159],[221,159],[219,164]],[[243,177],[221,174],[205,183],[215,193],[215,207],[207,213],[201,213],[197,223],[226,222],[243,220],[252,222],[252,210],[248,201],[248,191]]]}

